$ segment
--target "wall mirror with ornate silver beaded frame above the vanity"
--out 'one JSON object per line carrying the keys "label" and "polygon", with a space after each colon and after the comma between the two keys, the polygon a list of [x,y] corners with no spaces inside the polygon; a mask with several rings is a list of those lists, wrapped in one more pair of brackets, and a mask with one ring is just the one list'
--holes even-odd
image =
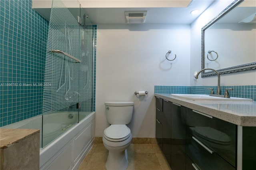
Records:
{"label": "wall mirror with ornate silver beaded frame above the vanity", "polygon": [[[235,0],[202,28],[202,69],[237,73],[256,69],[256,4]],[[202,77],[216,75],[205,70]]]}

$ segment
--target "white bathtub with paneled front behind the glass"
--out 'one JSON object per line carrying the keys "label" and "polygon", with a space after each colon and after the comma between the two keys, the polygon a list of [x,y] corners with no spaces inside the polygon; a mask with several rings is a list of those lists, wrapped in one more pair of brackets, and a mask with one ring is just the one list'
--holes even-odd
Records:
{"label": "white bathtub with paneled front behind the glass", "polygon": [[[67,119],[68,115],[74,119]],[[40,146],[42,136],[48,143],[40,148],[40,170],[76,170],[94,144],[95,112],[80,112],[85,117],[79,123],[77,113],[61,112],[44,115],[42,135],[42,115],[26,119],[1,128],[40,129]],[[57,136],[57,138],[56,138]]]}

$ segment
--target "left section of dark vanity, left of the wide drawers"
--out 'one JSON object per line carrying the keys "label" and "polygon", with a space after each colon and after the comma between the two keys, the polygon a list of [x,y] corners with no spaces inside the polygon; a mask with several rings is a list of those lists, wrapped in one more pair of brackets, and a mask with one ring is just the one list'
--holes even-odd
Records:
{"label": "left section of dark vanity, left of the wide drawers", "polygon": [[186,107],[156,98],[156,140],[172,170],[185,170]]}

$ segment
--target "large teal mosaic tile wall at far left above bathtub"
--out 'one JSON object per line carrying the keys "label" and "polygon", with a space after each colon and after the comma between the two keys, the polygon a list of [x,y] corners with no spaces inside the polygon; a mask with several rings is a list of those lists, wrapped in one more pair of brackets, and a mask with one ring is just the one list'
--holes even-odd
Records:
{"label": "large teal mosaic tile wall at far left above bathtub", "polygon": [[48,24],[32,0],[0,0],[0,127],[42,114]]}

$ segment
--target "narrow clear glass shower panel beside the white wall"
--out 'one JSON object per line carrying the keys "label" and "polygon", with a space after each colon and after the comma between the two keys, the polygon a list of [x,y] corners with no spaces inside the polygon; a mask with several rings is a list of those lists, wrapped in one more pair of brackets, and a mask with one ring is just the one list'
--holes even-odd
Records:
{"label": "narrow clear glass shower panel beside the white wall", "polygon": [[91,25],[89,16],[80,6],[80,54],[83,63],[80,65],[79,76],[79,101],[81,103],[79,109],[79,121],[84,119],[93,111],[93,71],[94,71],[94,44],[95,33],[94,27]]}

